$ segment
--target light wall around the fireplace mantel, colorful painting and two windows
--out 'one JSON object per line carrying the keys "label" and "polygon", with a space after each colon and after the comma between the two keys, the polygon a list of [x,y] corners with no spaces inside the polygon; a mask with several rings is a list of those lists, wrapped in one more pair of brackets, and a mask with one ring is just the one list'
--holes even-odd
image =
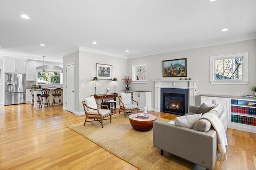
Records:
{"label": "light wall around the fireplace mantel, colorful painting and two windows", "polygon": [[[248,80],[250,81],[248,85],[210,84],[210,56],[243,52],[248,52]],[[200,105],[200,94],[224,94],[233,96],[254,94],[251,88],[256,86],[256,39],[128,59],[128,75],[132,75],[133,64],[148,64],[148,83],[133,83],[131,88],[152,90],[152,107],[154,107],[155,95],[152,80],[156,78],[161,78],[162,80],[179,79],[162,77],[162,61],[183,58],[187,58],[187,77],[192,80],[198,80],[196,105]]]}

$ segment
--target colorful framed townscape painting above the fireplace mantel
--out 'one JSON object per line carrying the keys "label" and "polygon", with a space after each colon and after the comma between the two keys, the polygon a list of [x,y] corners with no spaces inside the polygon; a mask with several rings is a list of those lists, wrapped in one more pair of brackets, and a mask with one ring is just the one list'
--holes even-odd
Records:
{"label": "colorful framed townscape painting above the fireplace mantel", "polygon": [[163,61],[163,77],[186,77],[187,59]]}

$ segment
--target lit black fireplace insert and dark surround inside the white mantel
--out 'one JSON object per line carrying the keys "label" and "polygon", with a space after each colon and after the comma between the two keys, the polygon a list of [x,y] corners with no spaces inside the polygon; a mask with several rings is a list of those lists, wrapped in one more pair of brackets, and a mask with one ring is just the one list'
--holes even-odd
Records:
{"label": "lit black fireplace insert and dark surround inside the white mantel", "polygon": [[188,113],[188,89],[161,88],[160,109],[176,115]]}

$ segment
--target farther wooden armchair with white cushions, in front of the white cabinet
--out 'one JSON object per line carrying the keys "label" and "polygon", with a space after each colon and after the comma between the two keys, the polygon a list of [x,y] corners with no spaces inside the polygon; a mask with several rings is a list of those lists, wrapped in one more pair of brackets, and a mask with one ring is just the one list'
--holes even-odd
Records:
{"label": "farther wooden armchair with white cushions, in front of the white cabinet", "polygon": [[[122,101],[122,98],[123,99],[125,98],[125,99]],[[120,114],[120,112],[124,112],[124,118],[126,118],[127,113],[135,113],[132,111],[136,111],[136,113],[139,113],[138,102],[132,99],[131,94],[129,95],[129,94],[121,93],[121,96],[118,96],[118,100],[119,100],[119,106],[120,106],[118,114]]]}

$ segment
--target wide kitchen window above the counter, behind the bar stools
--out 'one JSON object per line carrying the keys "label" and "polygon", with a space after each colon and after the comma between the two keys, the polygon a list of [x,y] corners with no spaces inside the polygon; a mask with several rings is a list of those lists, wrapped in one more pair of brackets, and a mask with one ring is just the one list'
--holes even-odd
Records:
{"label": "wide kitchen window above the counter, behind the bar stools", "polygon": [[37,72],[37,83],[40,84],[62,84],[60,72]]}

